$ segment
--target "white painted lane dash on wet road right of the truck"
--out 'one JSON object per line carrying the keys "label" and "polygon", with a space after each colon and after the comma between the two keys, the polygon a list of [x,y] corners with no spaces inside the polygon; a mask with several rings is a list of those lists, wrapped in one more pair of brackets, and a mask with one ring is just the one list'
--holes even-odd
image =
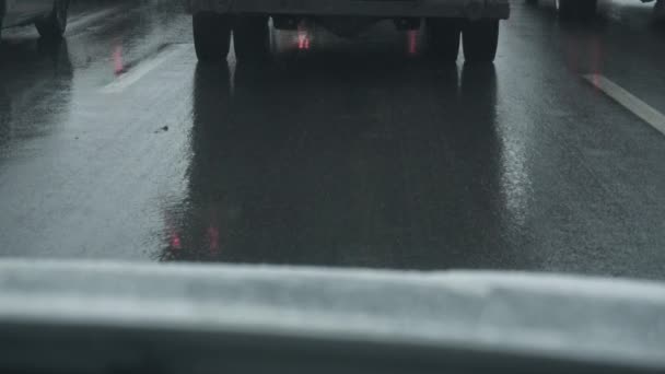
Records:
{"label": "white painted lane dash on wet road right of the truck", "polygon": [[639,100],[635,95],[626,91],[617,83],[610,81],[602,74],[587,74],[584,79],[591,84],[603,91],[606,95],[614,98],[635,116],[642,118],[646,124],[665,135],[665,116],[651,107],[649,104]]}

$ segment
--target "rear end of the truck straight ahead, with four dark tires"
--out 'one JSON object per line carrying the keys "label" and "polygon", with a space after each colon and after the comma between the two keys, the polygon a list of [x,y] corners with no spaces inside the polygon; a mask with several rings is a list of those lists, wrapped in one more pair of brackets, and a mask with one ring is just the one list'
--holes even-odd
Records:
{"label": "rear end of the truck straight ahead, with four dark tires", "polygon": [[510,15],[509,0],[187,0],[194,14],[194,42],[200,61],[222,61],[233,44],[238,61],[268,52],[269,17],[278,30],[294,30],[307,20],[351,37],[381,20],[400,30],[422,21],[429,50],[455,61],[459,44],[467,62],[491,62],[497,54],[499,21]]}

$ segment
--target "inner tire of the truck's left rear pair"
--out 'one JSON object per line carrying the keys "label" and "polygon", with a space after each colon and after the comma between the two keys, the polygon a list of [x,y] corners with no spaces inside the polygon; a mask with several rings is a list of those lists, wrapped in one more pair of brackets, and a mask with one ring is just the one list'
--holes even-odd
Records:
{"label": "inner tire of the truck's left rear pair", "polygon": [[269,54],[270,30],[264,15],[241,15],[233,26],[233,45],[238,62],[265,60]]}

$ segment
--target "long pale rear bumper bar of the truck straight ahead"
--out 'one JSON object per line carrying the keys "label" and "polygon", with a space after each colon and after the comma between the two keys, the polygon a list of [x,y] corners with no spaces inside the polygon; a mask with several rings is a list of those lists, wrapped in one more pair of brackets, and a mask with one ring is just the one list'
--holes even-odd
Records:
{"label": "long pale rear bumper bar of the truck straight ahead", "polygon": [[509,0],[185,0],[189,12],[508,19]]}

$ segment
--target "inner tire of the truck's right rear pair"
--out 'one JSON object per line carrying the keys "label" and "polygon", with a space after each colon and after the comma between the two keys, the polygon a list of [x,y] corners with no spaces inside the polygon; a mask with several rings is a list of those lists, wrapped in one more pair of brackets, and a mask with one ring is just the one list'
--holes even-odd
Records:
{"label": "inner tire of the truck's right rear pair", "polygon": [[425,21],[430,56],[446,62],[457,61],[460,24],[462,21],[457,19],[428,19]]}

